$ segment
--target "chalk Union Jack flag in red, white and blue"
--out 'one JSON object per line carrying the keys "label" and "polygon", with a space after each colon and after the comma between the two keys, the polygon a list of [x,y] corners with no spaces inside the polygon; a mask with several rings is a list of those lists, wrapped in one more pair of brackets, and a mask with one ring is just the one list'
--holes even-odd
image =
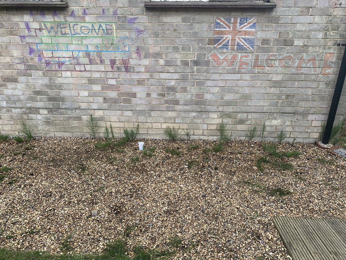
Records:
{"label": "chalk Union Jack flag in red, white and blue", "polygon": [[214,48],[254,52],[256,17],[216,18]]}

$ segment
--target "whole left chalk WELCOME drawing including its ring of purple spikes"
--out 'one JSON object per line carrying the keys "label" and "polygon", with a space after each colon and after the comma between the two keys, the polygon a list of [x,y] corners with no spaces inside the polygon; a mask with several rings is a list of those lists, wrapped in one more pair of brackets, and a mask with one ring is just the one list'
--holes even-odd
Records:
{"label": "whole left chalk WELCOME drawing including its ring of purple spikes", "polygon": [[[106,8],[102,8],[100,15],[107,16],[106,12]],[[112,16],[118,16],[118,9],[110,10],[110,13]],[[121,64],[128,72],[131,57],[142,59],[142,53],[139,47],[135,46],[135,42],[146,31],[137,23],[138,17],[126,19],[125,22],[133,26],[133,32],[129,32],[129,37],[121,37],[122,35],[117,35],[117,23],[113,22],[54,21],[56,17],[60,17],[55,10],[52,16],[46,15],[45,10],[40,10],[38,15],[30,10],[30,17],[35,19],[35,16],[48,21],[42,22],[39,28],[35,27],[36,23],[30,25],[30,22],[25,21],[24,25],[28,34],[18,36],[18,42],[26,43],[28,45],[26,55],[36,55],[37,63],[44,62],[47,70],[64,69],[67,64],[74,65],[69,66],[69,70],[92,68],[85,67],[86,64],[110,64],[110,68],[114,70],[116,64]],[[67,16],[77,17],[74,9],[70,9]],[[86,8],[80,16],[88,16]],[[62,20],[65,20],[64,17]],[[29,36],[33,37],[34,42],[30,41]],[[37,38],[40,39],[39,42]]]}

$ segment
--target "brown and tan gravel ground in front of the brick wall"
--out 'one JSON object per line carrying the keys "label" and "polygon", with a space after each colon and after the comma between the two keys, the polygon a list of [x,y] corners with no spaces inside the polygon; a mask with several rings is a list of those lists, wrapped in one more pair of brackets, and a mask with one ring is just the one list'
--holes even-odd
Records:
{"label": "brown and tan gravel ground in front of the brick wall", "polygon": [[272,216],[346,218],[346,159],[312,144],[276,143],[301,155],[270,156],[293,169],[264,163],[261,172],[257,159],[268,153],[259,141],[225,142],[215,153],[202,150],[215,141],[95,148],[100,140],[0,142],[0,247],[100,253],[125,239],[129,248],[176,250],[171,259],[290,259]]}

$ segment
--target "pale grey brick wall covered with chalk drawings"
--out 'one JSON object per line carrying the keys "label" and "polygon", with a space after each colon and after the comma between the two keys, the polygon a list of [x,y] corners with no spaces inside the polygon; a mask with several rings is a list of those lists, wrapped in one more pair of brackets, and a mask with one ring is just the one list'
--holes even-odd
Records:
{"label": "pale grey brick wall covered with chalk drawings", "polygon": [[[144,0],[69,0],[69,8],[0,9],[0,131],[162,138],[167,125],[215,139],[263,122],[267,140],[313,142],[326,121],[346,38],[338,0],[273,9],[145,9]],[[239,41],[234,41],[234,36]],[[345,94],[345,92],[343,92]],[[337,120],[345,114],[345,95]]]}

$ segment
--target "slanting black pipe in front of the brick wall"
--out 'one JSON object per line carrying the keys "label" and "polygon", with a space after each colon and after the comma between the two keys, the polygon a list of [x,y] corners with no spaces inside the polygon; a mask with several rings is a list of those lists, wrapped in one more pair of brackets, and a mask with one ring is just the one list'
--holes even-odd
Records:
{"label": "slanting black pipe in front of the brick wall", "polygon": [[[346,46],[346,44],[340,44],[340,43],[338,43],[337,45],[338,46],[340,46],[340,45]],[[341,61],[339,75],[338,75],[338,79],[336,81],[333,99],[332,99],[331,104],[330,104],[328,119],[327,119],[327,123],[326,123],[326,130],[325,130],[323,138],[322,138],[322,144],[324,144],[324,145],[329,144],[330,133],[331,133],[331,129],[333,128],[336,110],[338,109],[341,91],[343,90],[343,85],[345,82],[345,76],[346,76],[346,48],[344,50],[343,60]]]}

